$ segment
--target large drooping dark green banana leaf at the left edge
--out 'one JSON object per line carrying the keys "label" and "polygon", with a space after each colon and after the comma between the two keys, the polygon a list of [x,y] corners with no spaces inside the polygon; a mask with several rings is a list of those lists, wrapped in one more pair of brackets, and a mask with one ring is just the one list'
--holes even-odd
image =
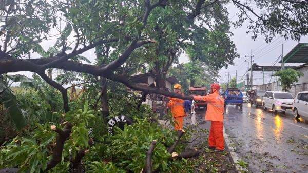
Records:
{"label": "large drooping dark green banana leaf at the left edge", "polygon": [[27,125],[25,115],[22,109],[19,107],[16,96],[5,85],[3,81],[0,80],[0,103],[8,110],[11,119],[16,125],[18,130],[21,130]]}

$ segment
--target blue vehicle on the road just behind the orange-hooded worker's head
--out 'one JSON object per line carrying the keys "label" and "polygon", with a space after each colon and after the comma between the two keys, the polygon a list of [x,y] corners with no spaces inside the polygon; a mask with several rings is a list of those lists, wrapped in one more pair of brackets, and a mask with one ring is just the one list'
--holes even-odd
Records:
{"label": "blue vehicle on the road just behind the orange-hooded worker's head", "polygon": [[225,101],[225,106],[235,105],[239,106],[240,109],[243,108],[243,94],[237,88],[229,88],[223,93],[223,98]]}

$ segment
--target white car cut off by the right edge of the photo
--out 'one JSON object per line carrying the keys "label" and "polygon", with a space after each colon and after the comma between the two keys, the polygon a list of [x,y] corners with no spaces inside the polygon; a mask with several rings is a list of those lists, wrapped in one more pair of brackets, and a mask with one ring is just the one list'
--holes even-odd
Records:
{"label": "white car cut off by the right edge of the photo", "polygon": [[308,91],[297,93],[294,100],[293,113],[297,119],[300,116],[308,117]]}

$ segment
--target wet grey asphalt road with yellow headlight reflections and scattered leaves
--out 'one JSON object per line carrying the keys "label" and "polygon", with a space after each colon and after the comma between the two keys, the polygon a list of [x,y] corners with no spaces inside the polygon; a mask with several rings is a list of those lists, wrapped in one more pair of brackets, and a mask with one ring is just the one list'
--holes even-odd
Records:
{"label": "wet grey asphalt road with yellow headlight reflections and scattered leaves", "polygon": [[291,112],[227,106],[224,127],[249,172],[308,172],[308,124]]}

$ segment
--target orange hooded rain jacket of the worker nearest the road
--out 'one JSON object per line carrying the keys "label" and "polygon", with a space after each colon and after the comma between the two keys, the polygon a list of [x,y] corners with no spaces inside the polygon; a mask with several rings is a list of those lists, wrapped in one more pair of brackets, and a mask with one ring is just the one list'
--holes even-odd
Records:
{"label": "orange hooded rain jacket of the worker nearest the road", "polygon": [[223,122],[224,100],[218,91],[206,96],[194,96],[194,99],[207,102],[205,120]]}

